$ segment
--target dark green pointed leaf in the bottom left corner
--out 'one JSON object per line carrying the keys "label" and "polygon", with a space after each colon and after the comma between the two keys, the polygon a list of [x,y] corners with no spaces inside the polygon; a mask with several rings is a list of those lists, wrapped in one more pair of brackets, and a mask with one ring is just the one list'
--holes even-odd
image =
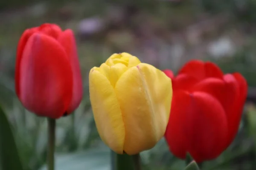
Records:
{"label": "dark green pointed leaf in the bottom left corner", "polygon": [[0,107],[0,170],[23,170],[11,126]]}

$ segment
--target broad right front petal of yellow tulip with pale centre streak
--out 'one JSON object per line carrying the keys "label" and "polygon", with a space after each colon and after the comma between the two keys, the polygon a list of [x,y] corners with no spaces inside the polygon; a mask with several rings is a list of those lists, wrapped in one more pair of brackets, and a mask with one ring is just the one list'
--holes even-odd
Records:
{"label": "broad right front petal of yellow tulip with pale centre streak", "polygon": [[125,125],[124,151],[132,155],[154,147],[169,120],[171,79],[152,65],[141,63],[122,74],[115,91]]}

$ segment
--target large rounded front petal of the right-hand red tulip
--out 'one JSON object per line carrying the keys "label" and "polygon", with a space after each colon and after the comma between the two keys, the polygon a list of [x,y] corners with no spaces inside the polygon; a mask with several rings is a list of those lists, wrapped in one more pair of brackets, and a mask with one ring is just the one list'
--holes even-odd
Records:
{"label": "large rounded front petal of the right-hand red tulip", "polygon": [[[177,107],[184,106],[180,103]],[[183,119],[188,151],[195,161],[215,159],[221,154],[227,141],[227,119],[218,100],[207,93],[194,92]]]}

